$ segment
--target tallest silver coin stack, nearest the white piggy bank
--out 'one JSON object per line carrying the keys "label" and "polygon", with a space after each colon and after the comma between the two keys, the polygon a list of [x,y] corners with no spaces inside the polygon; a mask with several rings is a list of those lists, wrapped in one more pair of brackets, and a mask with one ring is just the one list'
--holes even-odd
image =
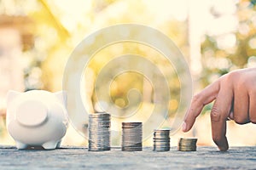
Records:
{"label": "tallest silver coin stack, nearest the white piggy bank", "polygon": [[89,151],[110,150],[110,114],[89,115]]}

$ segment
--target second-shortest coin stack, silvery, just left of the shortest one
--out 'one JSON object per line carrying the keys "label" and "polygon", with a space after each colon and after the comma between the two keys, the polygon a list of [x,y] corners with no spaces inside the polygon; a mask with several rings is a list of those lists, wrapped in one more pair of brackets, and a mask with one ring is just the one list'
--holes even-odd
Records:
{"label": "second-shortest coin stack, silvery, just left of the shortest one", "polygon": [[170,130],[154,130],[154,151],[170,150]]}

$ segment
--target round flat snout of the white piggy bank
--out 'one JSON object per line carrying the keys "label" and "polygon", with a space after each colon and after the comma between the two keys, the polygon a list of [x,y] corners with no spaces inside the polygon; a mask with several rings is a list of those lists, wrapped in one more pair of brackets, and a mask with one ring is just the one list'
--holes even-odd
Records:
{"label": "round flat snout of the white piggy bank", "polygon": [[15,119],[23,126],[39,126],[47,120],[48,109],[43,102],[26,100],[16,108]]}

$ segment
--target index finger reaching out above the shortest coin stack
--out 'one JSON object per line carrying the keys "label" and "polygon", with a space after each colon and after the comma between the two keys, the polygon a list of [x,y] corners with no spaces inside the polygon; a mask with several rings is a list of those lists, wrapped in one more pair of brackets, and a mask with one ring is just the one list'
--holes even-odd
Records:
{"label": "index finger reaching out above the shortest coin stack", "polygon": [[219,80],[213,82],[207,88],[204,88],[199,94],[196,94],[189,107],[189,110],[186,113],[183,122],[183,132],[188,132],[194,125],[195,119],[200,115],[203,107],[211,103],[216,99],[219,91]]}

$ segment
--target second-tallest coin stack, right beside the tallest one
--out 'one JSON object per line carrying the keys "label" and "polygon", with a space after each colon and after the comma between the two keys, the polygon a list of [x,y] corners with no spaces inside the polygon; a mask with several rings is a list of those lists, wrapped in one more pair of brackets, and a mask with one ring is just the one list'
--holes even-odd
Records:
{"label": "second-tallest coin stack, right beside the tallest one", "polygon": [[122,122],[122,150],[143,150],[142,122]]}

